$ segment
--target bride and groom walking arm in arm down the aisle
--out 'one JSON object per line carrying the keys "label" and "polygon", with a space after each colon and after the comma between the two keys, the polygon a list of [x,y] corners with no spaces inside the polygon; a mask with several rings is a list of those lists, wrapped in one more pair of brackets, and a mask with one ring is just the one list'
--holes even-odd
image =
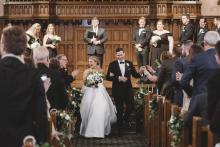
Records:
{"label": "bride and groom walking arm in arm down the aisle", "polygon": [[[131,76],[139,78],[144,70],[145,68],[141,67],[138,73],[133,63],[125,60],[124,50],[116,49],[116,60],[109,64],[106,75],[106,80],[112,81],[115,109],[103,85],[103,78],[100,74],[103,70],[99,66],[98,58],[89,57],[89,68],[83,75],[84,95],[80,106],[82,118],[80,135],[88,138],[104,138],[105,135],[111,133],[111,124],[116,122],[118,135],[122,135],[123,123],[129,123],[129,115],[133,110]],[[125,112],[124,104],[126,105]]]}

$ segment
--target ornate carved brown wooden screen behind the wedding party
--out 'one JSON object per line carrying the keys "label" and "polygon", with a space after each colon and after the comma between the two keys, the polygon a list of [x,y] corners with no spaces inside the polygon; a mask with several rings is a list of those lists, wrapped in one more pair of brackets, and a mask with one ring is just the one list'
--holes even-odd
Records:
{"label": "ornate carved brown wooden screen behind the wedding party", "polygon": [[[199,0],[6,0],[4,25],[8,22],[27,29],[39,22],[45,32],[48,23],[54,23],[56,32],[62,37],[59,53],[69,59],[69,68],[83,71],[87,66],[86,44],[82,27],[84,19],[97,16],[101,26],[106,29],[108,41],[105,44],[104,69],[114,59],[114,50],[123,47],[127,59],[134,61],[135,52],[132,35],[141,16],[147,18],[152,30],[158,19],[165,20],[166,29],[173,33],[175,41],[179,38],[180,16],[190,14],[193,21],[201,15]],[[2,23],[0,24],[2,26]],[[43,35],[43,34],[42,34]],[[81,77],[80,77],[81,78]]]}

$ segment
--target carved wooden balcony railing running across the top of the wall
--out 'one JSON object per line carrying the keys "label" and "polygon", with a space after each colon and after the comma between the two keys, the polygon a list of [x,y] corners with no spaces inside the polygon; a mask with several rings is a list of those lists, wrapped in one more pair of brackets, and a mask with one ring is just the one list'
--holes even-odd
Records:
{"label": "carved wooden balcony railing running across the top of the wall", "polygon": [[198,0],[6,0],[5,18],[82,19],[94,15],[103,19],[174,18],[183,13],[201,15]]}

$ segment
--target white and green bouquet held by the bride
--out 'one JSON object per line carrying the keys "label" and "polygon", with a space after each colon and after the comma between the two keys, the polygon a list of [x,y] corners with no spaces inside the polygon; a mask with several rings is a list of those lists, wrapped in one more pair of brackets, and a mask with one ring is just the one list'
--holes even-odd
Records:
{"label": "white and green bouquet held by the bride", "polygon": [[87,87],[98,88],[98,84],[102,83],[103,78],[104,74],[101,72],[89,72],[86,80],[84,81],[84,85]]}

